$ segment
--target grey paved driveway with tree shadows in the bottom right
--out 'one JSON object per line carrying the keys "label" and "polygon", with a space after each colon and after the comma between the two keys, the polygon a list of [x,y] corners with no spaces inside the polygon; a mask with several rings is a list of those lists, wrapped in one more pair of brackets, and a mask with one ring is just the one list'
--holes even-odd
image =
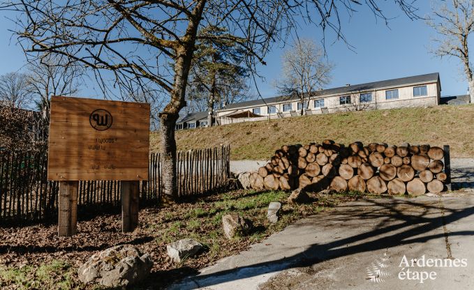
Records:
{"label": "grey paved driveway with tree shadows in the bottom right", "polygon": [[473,247],[473,194],[364,199],[300,220],[170,289],[474,289]]}

